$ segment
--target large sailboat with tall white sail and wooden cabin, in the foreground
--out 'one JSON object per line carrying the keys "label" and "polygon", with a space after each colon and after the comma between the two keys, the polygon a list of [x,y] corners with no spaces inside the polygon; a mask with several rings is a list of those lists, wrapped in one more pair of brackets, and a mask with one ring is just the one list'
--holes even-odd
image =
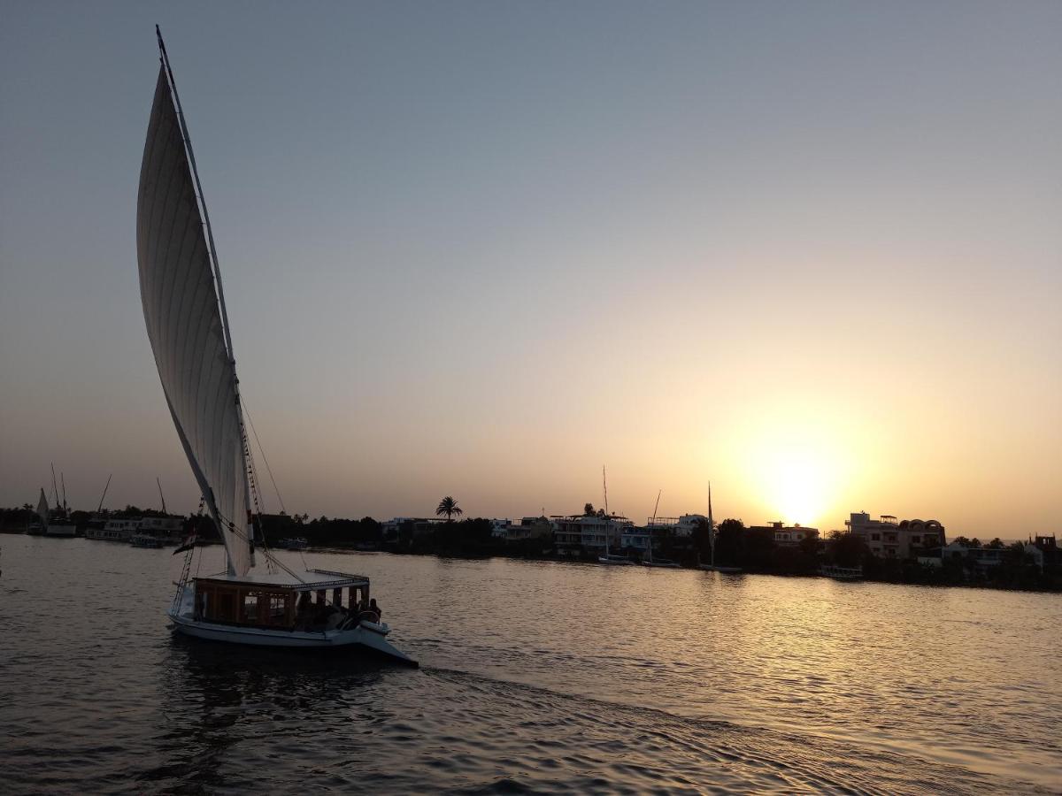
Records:
{"label": "large sailboat with tall white sail and wooden cabin, in the foreground", "polygon": [[[256,646],[360,647],[416,665],[388,641],[378,610],[366,609],[367,577],[297,572],[260,544],[260,495],[213,232],[157,25],[155,34],[159,70],[137,195],[140,298],[166,403],[226,560],[223,572],[196,568],[192,576],[194,540],[177,549],[187,554],[167,612],[172,629]],[[264,568],[255,566],[256,547]]]}

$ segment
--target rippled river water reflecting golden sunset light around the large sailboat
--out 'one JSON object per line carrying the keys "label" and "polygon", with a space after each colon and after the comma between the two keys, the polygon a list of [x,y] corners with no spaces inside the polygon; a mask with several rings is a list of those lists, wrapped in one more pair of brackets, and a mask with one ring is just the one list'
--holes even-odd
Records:
{"label": "rippled river water reflecting golden sunset light around the large sailboat", "polygon": [[1062,791],[1059,595],[306,553],[409,670],[172,637],[168,550],[0,547],[4,793]]}

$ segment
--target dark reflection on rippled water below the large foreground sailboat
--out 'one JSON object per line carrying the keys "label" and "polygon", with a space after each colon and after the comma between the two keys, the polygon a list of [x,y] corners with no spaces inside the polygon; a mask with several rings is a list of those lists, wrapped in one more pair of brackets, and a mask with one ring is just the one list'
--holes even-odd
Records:
{"label": "dark reflection on rippled water below the large foreground sailboat", "polygon": [[160,663],[166,729],[151,739],[153,754],[133,777],[166,793],[232,788],[240,781],[237,772],[276,765],[286,750],[387,721],[390,710],[374,695],[394,677],[415,676],[350,650],[306,655],[181,634],[171,637]]}

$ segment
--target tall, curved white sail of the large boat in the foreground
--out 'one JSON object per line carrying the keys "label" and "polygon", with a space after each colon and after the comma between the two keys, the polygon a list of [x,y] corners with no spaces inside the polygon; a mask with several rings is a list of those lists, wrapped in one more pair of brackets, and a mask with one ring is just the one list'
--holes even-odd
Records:
{"label": "tall, curved white sail of the large boat in the foreground", "polygon": [[137,261],[148,338],[177,436],[225,542],[228,571],[246,574],[253,559],[236,367],[165,67],[140,166]]}

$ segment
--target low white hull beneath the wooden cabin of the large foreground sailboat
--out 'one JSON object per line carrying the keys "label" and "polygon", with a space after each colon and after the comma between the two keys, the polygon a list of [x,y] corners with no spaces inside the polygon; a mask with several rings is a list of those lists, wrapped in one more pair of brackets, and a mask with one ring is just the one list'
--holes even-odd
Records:
{"label": "low white hull beneath the wooden cabin of the large foreground sailboat", "polygon": [[357,627],[346,630],[306,633],[303,630],[281,630],[270,627],[222,625],[212,622],[196,621],[173,612],[167,616],[173,621],[174,631],[208,641],[224,641],[230,644],[250,644],[252,646],[313,650],[359,646],[390,658],[395,658],[409,665],[417,665],[415,660],[387,641],[384,638],[388,631],[387,625],[377,625],[372,622],[362,622]]}

